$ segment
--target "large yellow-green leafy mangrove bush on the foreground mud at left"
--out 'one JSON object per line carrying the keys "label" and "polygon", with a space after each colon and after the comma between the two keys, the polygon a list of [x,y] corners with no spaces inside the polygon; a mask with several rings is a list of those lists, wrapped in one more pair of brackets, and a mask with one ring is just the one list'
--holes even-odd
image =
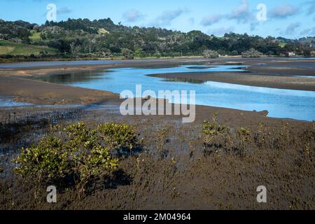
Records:
{"label": "large yellow-green leafy mangrove bush on the foreground mud at left", "polygon": [[92,179],[99,179],[118,167],[113,149],[132,150],[138,144],[130,125],[104,124],[97,129],[85,123],[56,127],[36,146],[22,148],[15,162],[16,174],[36,180],[36,184],[64,183],[72,176],[80,192]]}

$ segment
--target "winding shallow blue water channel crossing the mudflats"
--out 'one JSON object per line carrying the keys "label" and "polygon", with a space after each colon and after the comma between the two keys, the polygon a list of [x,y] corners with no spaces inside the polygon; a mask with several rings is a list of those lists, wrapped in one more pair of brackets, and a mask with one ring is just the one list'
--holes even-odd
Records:
{"label": "winding shallow blue water channel crossing the mudflats", "polygon": [[[267,87],[251,87],[217,82],[194,80],[164,80],[146,75],[156,73],[185,73],[201,71],[243,71],[242,66],[179,66],[165,69],[105,69],[104,72],[82,73],[80,75],[59,75],[41,78],[53,83],[87,87],[120,93],[123,90],[136,92],[136,85],[142,91],[153,90],[195,90],[196,104],[218,106],[246,111],[269,111],[269,117],[315,120],[315,92],[280,90]],[[239,68],[239,69],[237,69]]]}

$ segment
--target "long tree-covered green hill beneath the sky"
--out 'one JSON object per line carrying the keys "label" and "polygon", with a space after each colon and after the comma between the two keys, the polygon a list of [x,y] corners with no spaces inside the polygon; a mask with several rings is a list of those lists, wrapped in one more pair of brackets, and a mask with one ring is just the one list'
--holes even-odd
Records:
{"label": "long tree-covered green hill beneath the sky", "polygon": [[[263,55],[311,55],[315,38],[290,40],[247,34],[207,35],[201,31],[125,27],[104,20],[67,20],[44,25],[0,20],[0,56],[49,57],[176,57],[202,55],[205,50],[220,55],[241,55],[256,50]],[[37,50],[27,50],[34,46]],[[21,50],[25,49],[25,50]]]}

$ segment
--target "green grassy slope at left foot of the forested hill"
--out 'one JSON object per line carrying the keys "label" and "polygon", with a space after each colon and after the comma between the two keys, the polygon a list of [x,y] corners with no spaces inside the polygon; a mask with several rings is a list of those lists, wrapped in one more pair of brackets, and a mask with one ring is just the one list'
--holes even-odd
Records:
{"label": "green grassy slope at left foot of the forested hill", "polygon": [[57,49],[47,46],[28,45],[23,43],[14,43],[11,41],[0,40],[0,55],[39,55],[41,52],[56,54]]}

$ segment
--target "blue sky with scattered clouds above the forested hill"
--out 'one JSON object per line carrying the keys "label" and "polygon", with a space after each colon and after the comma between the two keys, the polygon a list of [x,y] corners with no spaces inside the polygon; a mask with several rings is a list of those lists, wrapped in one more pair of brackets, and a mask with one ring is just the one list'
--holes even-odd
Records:
{"label": "blue sky with scattered clouds above the forested hill", "polygon": [[[123,25],[162,27],[300,38],[315,36],[315,0],[1,0],[0,18],[42,24],[48,3],[57,6],[57,21],[67,18],[111,18]],[[267,6],[267,20],[258,21],[257,6]]]}

